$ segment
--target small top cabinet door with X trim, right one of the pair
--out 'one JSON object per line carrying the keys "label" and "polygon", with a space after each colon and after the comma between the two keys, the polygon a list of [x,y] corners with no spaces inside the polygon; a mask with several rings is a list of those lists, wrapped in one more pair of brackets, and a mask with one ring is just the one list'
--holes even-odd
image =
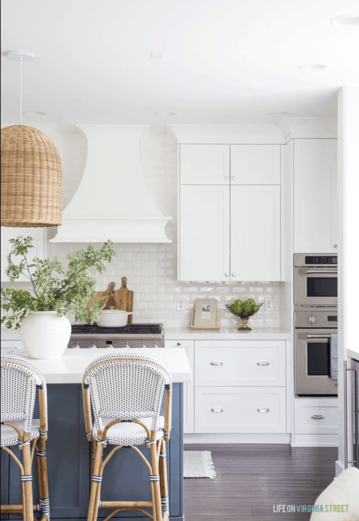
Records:
{"label": "small top cabinet door with X trim, right one of the pair", "polygon": [[280,184],[280,145],[231,145],[231,184]]}

